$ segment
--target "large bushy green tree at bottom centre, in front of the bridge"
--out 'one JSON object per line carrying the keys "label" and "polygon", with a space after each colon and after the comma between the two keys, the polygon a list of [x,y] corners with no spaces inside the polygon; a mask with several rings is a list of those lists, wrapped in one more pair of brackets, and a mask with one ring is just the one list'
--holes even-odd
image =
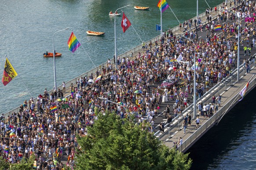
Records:
{"label": "large bushy green tree at bottom centre, in front of the bridge", "polygon": [[77,136],[76,167],[79,170],[188,170],[188,154],[162,145],[148,132],[150,125],[137,125],[115,113],[99,114],[88,135]]}

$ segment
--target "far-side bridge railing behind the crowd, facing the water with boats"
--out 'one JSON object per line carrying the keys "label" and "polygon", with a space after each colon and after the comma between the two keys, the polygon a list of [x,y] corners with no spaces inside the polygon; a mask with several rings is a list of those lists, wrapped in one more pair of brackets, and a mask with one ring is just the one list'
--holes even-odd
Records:
{"label": "far-side bridge railing behind the crowd, facing the water with boats", "polygon": [[[232,0],[228,0],[228,1],[227,1],[227,2],[228,2],[227,4],[229,4],[230,1],[232,1]],[[217,9],[219,9],[219,7],[220,7],[221,5],[222,5],[222,4],[217,5],[217,6],[216,6]],[[205,16],[205,12],[198,15],[198,17],[200,17],[200,18],[203,18],[204,16]],[[192,18],[192,20],[194,21],[195,18],[197,18],[197,17]],[[213,16],[213,17],[212,17],[212,20],[214,20],[214,19],[216,19],[216,16]],[[202,23],[205,24],[206,22],[207,22],[207,21],[202,22]],[[193,29],[193,28],[188,29],[188,30],[192,30],[192,29]],[[176,26],[176,27],[172,28],[171,30],[172,30],[173,33],[176,32],[176,31],[179,31],[179,26]],[[155,42],[155,39],[157,39],[157,40],[161,39],[161,35],[158,35],[158,36],[154,37],[153,39],[150,39],[149,41],[146,41],[145,43],[147,43],[147,44],[149,44],[150,42],[154,43],[154,42]],[[132,52],[132,53],[136,53],[136,52],[139,52],[140,50],[142,50],[142,45],[136,46],[136,47],[133,48],[132,50],[128,50],[128,51],[126,51],[125,53],[119,55],[118,57],[120,57],[121,59],[124,58],[124,57],[130,57],[131,52]],[[112,63],[112,64],[114,63],[114,62],[113,62],[113,59],[111,59],[111,63]],[[76,82],[77,82],[77,79],[80,78],[80,77],[85,77],[85,76],[88,77],[88,76],[90,76],[91,74],[94,74],[97,70],[101,71],[101,68],[102,68],[103,66],[106,67],[106,65],[107,65],[107,62],[105,62],[105,63],[103,63],[103,64],[100,64],[98,67],[95,67],[95,68],[93,68],[93,69],[87,71],[86,73],[77,76],[76,78],[73,78],[73,79],[71,79],[71,80],[69,80],[69,81],[66,81],[66,82],[65,82],[65,83],[66,83],[66,88],[69,87],[69,86],[71,85],[71,83],[73,83],[73,85],[75,85]],[[58,86],[57,89],[58,89],[58,88],[62,89],[62,85]],[[49,91],[49,93],[51,93],[51,92],[52,92],[52,91]],[[15,109],[12,109],[12,110],[10,110],[10,111],[4,113],[4,116],[11,115],[11,113],[13,113],[13,112],[18,113],[18,112],[19,112],[19,106],[16,107]]]}

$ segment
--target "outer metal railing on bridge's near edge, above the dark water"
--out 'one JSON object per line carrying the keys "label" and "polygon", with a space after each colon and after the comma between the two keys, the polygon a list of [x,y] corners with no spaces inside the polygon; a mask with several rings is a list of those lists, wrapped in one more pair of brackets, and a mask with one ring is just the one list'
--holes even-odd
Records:
{"label": "outer metal railing on bridge's near edge, above the dark water", "polygon": [[[248,91],[253,88],[256,84],[256,78],[254,78],[248,86]],[[188,137],[183,143],[182,145],[179,146],[178,150],[180,152],[182,152],[184,149],[186,149],[192,142],[194,142],[196,140],[197,137],[199,137],[200,135],[202,135],[206,129],[210,126],[212,126],[213,124],[216,123],[216,120],[223,114],[225,113],[228,109],[230,109],[230,106],[233,103],[237,103],[239,100],[239,98],[237,98],[237,95],[234,96],[232,99],[230,99],[230,101],[228,103],[226,103],[224,106],[222,106],[217,113],[215,113],[211,118],[209,118],[204,124],[202,124],[197,131],[195,131],[192,135],[190,135],[190,137]]]}

